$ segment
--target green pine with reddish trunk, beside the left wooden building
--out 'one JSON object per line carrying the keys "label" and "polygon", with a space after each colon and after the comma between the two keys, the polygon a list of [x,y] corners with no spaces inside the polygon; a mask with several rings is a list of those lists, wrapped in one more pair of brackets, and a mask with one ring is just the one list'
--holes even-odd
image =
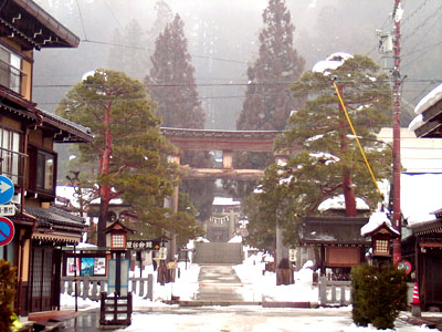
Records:
{"label": "green pine with reddish trunk, beside the left wooden building", "polygon": [[120,72],[97,70],[69,91],[56,113],[90,127],[94,136],[93,143],[80,145],[80,152],[82,162],[97,165],[97,245],[106,246],[108,204],[116,197],[131,204],[139,220],[167,228],[161,207],[172,193],[176,169],[167,154],[173,149],[160,134],[160,120],[151,112],[143,83]]}

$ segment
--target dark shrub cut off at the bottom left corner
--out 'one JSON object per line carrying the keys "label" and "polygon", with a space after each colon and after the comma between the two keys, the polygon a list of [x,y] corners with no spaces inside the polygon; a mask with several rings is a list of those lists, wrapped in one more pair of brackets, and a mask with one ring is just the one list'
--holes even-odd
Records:
{"label": "dark shrub cut off at the bottom left corner", "polygon": [[0,259],[0,331],[9,331],[12,325],[15,287],[15,268]]}

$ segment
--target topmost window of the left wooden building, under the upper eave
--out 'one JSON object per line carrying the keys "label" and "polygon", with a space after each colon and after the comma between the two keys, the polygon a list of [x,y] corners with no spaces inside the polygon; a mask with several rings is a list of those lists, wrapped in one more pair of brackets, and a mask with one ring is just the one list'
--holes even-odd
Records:
{"label": "topmost window of the left wooden building, under the upper eave", "polygon": [[0,46],[0,84],[20,93],[21,58]]}

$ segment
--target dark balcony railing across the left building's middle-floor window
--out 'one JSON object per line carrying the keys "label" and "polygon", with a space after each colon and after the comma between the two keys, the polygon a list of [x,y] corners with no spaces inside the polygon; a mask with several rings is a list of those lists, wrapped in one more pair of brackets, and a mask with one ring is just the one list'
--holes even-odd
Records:
{"label": "dark balcony railing across the left building's middle-floor window", "polygon": [[25,154],[0,147],[0,175],[9,177],[15,186],[23,187],[27,159]]}

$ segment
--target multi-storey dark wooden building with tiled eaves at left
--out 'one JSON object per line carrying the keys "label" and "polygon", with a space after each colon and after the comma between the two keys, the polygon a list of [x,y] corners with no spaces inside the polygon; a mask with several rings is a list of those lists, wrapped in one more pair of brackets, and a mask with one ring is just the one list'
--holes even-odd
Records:
{"label": "multi-storey dark wooden building with tiled eaves at left", "polygon": [[18,267],[17,312],[60,304],[61,246],[81,240],[84,220],[51,207],[55,143],[91,142],[88,129],[32,102],[33,52],[76,48],[80,39],[31,0],[3,1],[0,11],[0,175],[14,184],[13,240],[0,258]]}

